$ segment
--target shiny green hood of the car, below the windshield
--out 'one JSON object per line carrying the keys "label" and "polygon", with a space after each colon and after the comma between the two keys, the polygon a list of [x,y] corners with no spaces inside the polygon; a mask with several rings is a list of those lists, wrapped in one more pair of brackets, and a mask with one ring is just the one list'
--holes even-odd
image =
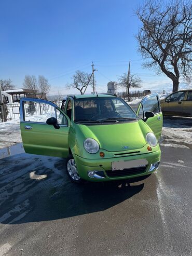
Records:
{"label": "shiny green hood of the car, below the windshield", "polygon": [[147,143],[145,134],[150,131],[142,120],[109,125],[80,125],[80,128],[85,138],[97,140],[100,149],[111,152],[141,149]]}

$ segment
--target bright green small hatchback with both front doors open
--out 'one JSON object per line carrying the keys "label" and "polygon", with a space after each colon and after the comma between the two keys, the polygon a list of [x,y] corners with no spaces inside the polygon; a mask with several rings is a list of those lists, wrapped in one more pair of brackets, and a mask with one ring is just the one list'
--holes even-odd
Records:
{"label": "bright green small hatchback with both front doors open", "polygon": [[115,95],[67,96],[61,108],[22,98],[20,115],[25,152],[66,157],[73,182],[133,178],[159,167],[162,113],[157,93],[143,98],[136,113]]}

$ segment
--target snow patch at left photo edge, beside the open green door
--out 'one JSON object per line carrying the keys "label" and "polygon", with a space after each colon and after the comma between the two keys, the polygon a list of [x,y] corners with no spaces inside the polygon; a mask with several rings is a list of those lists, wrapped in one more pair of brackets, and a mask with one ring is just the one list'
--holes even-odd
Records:
{"label": "snow patch at left photo edge, beside the open green door", "polygon": [[20,120],[0,123],[0,149],[22,142]]}

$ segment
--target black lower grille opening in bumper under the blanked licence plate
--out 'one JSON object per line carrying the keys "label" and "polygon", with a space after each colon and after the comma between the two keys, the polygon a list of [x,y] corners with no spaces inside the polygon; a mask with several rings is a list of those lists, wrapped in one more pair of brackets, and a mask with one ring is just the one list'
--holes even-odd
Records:
{"label": "black lower grille opening in bumper under the blanked licence plate", "polygon": [[145,171],[146,171],[146,166],[124,169],[124,170],[106,171],[106,174],[109,178],[114,178],[114,177],[130,176],[134,174],[141,174],[141,173],[144,173]]}

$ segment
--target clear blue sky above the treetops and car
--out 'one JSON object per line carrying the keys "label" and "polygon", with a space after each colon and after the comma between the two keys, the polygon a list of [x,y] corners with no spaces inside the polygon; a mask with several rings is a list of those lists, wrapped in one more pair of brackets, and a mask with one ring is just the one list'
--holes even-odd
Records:
{"label": "clear blue sky above the treetops and car", "polygon": [[134,38],[140,23],[134,9],[142,2],[1,1],[0,79],[10,78],[21,88],[25,75],[45,75],[50,94],[68,93],[70,77],[77,69],[91,72],[93,61],[97,91],[104,92],[109,80],[127,72],[130,60],[131,73],[141,77],[145,89],[166,89],[171,80],[141,66]]}

